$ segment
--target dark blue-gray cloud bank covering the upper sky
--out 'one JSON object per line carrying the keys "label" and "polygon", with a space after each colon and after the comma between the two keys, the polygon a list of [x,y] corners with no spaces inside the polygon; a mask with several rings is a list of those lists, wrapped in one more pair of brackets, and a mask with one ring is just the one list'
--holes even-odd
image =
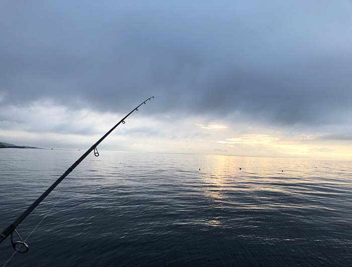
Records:
{"label": "dark blue-gray cloud bank covering the upper sky", "polygon": [[347,1],[0,4],[3,103],[346,123]]}

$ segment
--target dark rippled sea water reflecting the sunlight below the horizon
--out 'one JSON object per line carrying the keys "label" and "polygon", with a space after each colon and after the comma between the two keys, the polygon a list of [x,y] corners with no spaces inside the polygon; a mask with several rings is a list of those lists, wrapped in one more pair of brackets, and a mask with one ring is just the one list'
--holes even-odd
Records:
{"label": "dark rippled sea water reflecting the sunlight below the horizon", "polygon": [[[80,154],[0,150],[0,231]],[[352,162],[100,154],[18,227],[62,196],[7,266],[352,265]]]}

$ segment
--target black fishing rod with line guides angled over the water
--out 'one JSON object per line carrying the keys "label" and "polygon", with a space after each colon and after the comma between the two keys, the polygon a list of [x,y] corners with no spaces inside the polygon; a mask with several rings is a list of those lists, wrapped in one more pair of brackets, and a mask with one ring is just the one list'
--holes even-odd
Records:
{"label": "black fishing rod with line guides angled over the water", "polygon": [[[110,135],[110,133],[117,127],[119,126],[121,123],[125,124],[125,119],[131,115],[134,111],[138,111],[138,108],[143,105],[146,104],[147,101],[151,100],[152,98],[154,98],[154,96],[149,97],[148,99],[146,99],[145,101],[143,101],[142,103],[140,103],[137,107],[135,107],[130,113],[128,113],[125,117],[123,117],[114,127],[112,127],[107,133],[105,133],[105,135],[99,139],[97,141],[97,143],[95,143],[89,150],[87,150],[75,163],[72,164],[71,167],[69,167],[41,196],[39,196],[37,198],[37,200],[28,207],[27,210],[25,210],[12,224],[9,225],[8,228],[6,228],[4,230],[3,233],[0,234],[0,243],[3,242],[9,235],[11,235],[11,244],[12,247],[20,253],[25,253],[28,251],[28,245],[25,243],[25,241],[23,241],[23,239],[21,238],[21,236],[19,235],[19,233],[16,230],[16,227],[43,201],[43,199],[52,191],[54,190],[54,188],[71,172],[74,170],[75,167],[77,167],[79,165],[79,163],[81,163],[86,156],[88,156],[92,151],[94,151],[94,156],[98,157],[99,156],[99,152],[97,149],[97,146],[107,137]],[[14,232],[16,233],[16,235],[18,236],[18,238],[20,239],[20,241],[14,241],[13,238],[13,234]],[[22,249],[20,249],[22,247]]]}

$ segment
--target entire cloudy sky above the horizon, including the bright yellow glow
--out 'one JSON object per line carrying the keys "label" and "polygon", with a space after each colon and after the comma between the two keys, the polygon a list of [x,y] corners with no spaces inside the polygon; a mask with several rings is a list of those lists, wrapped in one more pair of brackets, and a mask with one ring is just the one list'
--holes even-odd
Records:
{"label": "entire cloudy sky above the horizon, including the bright yellow glow", "polygon": [[0,142],[352,159],[351,1],[0,2]]}

